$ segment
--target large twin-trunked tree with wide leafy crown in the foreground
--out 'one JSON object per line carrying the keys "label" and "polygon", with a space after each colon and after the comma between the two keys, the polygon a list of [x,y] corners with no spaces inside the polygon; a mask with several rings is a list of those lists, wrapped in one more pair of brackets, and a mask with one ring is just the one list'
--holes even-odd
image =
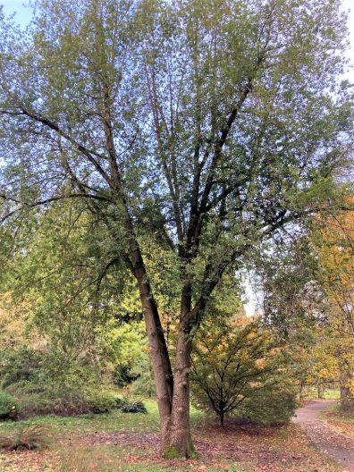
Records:
{"label": "large twin-trunked tree with wide leafy crown in the foreground", "polygon": [[[26,32],[1,14],[0,221],[82,198],[105,225],[107,270],[120,258],[139,287],[168,456],[191,453],[191,341],[216,285],[330,198],[351,126],[339,8],[42,0]],[[169,252],[174,367],[147,241]]]}

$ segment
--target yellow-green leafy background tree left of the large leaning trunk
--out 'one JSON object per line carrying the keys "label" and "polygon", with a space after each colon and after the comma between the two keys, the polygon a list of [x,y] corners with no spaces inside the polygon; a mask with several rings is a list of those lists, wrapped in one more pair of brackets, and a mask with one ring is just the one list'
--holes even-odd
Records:
{"label": "yellow-green leafy background tree left of the large leaning trunk", "polygon": [[[105,229],[99,234],[91,232],[95,220],[77,201],[58,202],[38,221],[40,226],[36,226],[26,250],[9,257],[0,291],[10,290],[7,308],[23,320],[28,343],[41,345],[46,371],[61,376],[72,365],[91,365],[99,370],[101,359],[107,357],[106,324],[113,315],[126,313],[125,306],[112,299],[122,291],[125,272],[119,270],[119,261],[109,273],[105,271],[114,257],[109,245],[103,248],[100,244],[106,238]],[[21,277],[14,278],[14,273]],[[19,350],[17,358],[10,356],[9,376],[30,380],[34,374],[39,354],[26,349]],[[17,374],[11,373],[10,363]],[[15,381],[9,378],[5,382]]]}

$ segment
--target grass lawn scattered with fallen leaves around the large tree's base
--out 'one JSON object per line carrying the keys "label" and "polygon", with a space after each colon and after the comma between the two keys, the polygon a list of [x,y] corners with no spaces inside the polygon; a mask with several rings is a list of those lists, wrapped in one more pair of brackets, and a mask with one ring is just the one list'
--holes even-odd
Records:
{"label": "grass lawn scattered with fallen leaves around the large tree's base", "polygon": [[295,425],[282,428],[225,428],[192,411],[193,437],[200,459],[160,458],[156,403],[147,415],[114,412],[81,417],[36,417],[0,424],[14,428],[46,427],[50,445],[43,451],[3,452],[0,472],[336,472]]}

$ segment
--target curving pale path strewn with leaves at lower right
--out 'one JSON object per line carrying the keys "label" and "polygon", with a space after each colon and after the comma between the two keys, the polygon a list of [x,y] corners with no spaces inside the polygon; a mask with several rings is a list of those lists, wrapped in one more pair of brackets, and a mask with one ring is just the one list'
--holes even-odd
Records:
{"label": "curving pale path strewn with leaves at lower right", "polygon": [[319,419],[319,413],[327,409],[334,400],[312,401],[306,407],[298,409],[294,423],[306,430],[311,442],[341,466],[343,471],[354,472],[354,441],[344,434],[335,433]]}

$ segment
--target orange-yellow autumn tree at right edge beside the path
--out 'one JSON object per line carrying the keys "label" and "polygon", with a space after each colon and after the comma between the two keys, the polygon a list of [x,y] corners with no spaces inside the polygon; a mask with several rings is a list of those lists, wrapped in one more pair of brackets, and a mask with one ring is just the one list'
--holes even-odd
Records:
{"label": "orange-yellow autumn tree at right edge beside the path", "polygon": [[[317,222],[313,240],[318,278],[329,305],[328,324],[340,359],[341,406],[354,408],[354,199],[348,211],[337,211]],[[351,207],[351,210],[350,210]]]}

